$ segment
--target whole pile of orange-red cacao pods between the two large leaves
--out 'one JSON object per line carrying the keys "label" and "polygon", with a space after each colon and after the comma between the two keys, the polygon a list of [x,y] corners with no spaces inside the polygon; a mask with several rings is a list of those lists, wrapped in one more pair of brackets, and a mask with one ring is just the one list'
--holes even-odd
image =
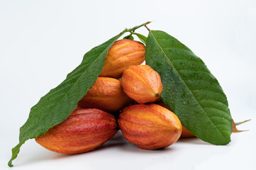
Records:
{"label": "whole pile of orange-red cacao pods between the two large leaves", "polygon": [[160,149],[194,136],[161,101],[160,76],[145,61],[145,45],[118,40],[98,79],[59,125],[35,140],[53,152],[77,154],[104,144],[121,129],[128,142]]}

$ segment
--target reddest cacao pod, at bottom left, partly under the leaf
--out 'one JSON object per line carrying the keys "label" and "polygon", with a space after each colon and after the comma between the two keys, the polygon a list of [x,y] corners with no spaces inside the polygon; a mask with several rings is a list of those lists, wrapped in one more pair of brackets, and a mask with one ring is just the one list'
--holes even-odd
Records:
{"label": "reddest cacao pod, at bottom left, partly under the leaf", "polygon": [[78,154],[96,149],[116,133],[113,115],[96,108],[76,108],[62,123],[35,141],[53,152]]}

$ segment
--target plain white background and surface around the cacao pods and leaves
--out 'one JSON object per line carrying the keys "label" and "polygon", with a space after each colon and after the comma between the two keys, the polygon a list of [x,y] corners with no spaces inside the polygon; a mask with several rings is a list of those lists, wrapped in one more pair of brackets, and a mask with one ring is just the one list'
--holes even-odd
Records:
{"label": "plain white background and surface around the cacao pods and leaves", "polygon": [[[179,140],[157,151],[118,134],[94,152],[67,156],[28,140],[13,169],[255,169],[256,1],[0,0],[0,169],[30,108],[85,52],[146,21],[201,57],[228,97],[234,120],[252,119],[226,146]],[[138,33],[148,35],[145,28]]]}

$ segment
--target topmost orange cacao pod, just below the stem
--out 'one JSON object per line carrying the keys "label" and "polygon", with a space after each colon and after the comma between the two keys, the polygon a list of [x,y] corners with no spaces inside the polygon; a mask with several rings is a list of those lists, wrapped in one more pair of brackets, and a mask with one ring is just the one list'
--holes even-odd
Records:
{"label": "topmost orange cacao pod, just below the stem", "polygon": [[145,61],[145,45],[135,40],[117,40],[109,48],[100,77],[120,78],[130,65]]}

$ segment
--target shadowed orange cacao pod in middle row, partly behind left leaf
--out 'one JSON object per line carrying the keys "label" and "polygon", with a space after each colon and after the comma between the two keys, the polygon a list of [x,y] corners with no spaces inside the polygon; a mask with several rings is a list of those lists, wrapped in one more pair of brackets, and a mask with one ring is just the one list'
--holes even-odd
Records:
{"label": "shadowed orange cacao pod in middle row, partly behind left leaf", "polygon": [[98,77],[87,95],[77,103],[80,108],[99,108],[108,113],[123,109],[132,101],[123,92],[121,82],[110,77]]}

